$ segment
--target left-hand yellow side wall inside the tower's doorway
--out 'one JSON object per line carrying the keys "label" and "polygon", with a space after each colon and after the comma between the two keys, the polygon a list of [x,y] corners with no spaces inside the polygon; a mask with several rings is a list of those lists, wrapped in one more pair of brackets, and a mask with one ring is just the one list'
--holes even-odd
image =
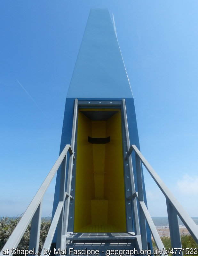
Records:
{"label": "left-hand yellow side wall inside the tower's doorway", "polygon": [[74,231],[90,224],[91,200],[94,198],[93,149],[87,136],[92,136],[91,121],[78,113],[77,161],[75,181]]}

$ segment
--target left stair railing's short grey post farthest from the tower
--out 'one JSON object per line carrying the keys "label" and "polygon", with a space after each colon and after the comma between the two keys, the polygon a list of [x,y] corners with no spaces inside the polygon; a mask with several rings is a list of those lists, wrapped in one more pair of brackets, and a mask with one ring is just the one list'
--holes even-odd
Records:
{"label": "left stair railing's short grey post farthest from the tower", "polygon": [[42,202],[39,204],[34,216],[32,217],[30,238],[29,238],[29,250],[35,249],[38,253],[40,229],[41,229],[41,213],[42,213]]}

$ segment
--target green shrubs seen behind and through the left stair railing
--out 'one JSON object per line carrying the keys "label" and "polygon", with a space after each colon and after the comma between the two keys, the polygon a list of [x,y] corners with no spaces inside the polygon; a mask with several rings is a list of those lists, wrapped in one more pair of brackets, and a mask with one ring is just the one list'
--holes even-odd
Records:
{"label": "green shrubs seen behind and through the left stair railing", "polygon": [[[20,221],[21,216],[17,218],[9,218],[3,217],[0,220],[0,250],[3,248],[4,244],[12,234],[12,231]],[[45,238],[47,236],[48,230],[51,225],[51,220],[42,219],[41,220],[41,232],[40,232],[40,241],[39,241],[39,252],[43,248]],[[29,235],[30,235],[31,223],[28,225],[25,234],[21,238],[19,245],[17,246],[19,249],[28,249],[29,245]]]}

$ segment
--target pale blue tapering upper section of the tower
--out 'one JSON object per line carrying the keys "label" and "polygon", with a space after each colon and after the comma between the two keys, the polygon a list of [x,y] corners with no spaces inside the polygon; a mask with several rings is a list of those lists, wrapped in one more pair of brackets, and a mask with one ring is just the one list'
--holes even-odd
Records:
{"label": "pale blue tapering upper section of the tower", "polygon": [[67,98],[132,98],[108,9],[91,9]]}

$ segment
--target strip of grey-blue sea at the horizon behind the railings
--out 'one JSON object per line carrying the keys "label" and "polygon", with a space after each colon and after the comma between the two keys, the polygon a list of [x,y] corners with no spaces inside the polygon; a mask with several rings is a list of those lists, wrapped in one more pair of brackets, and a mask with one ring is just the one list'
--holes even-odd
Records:
{"label": "strip of grey-blue sea at the horizon behind the railings", "polygon": [[[3,217],[0,217],[0,220]],[[17,217],[9,217],[9,218],[17,218]],[[198,226],[198,217],[191,217],[195,224]],[[49,220],[50,217],[45,217],[45,220]],[[168,221],[168,217],[152,217],[152,220],[154,222],[154,225],[156,228],[165,228],[165,227],[169,227],[169,221]],[[178,218],[178,224],[179,224],[179,228],[184,228],[185,225],[183,224],[183,222]]]}

